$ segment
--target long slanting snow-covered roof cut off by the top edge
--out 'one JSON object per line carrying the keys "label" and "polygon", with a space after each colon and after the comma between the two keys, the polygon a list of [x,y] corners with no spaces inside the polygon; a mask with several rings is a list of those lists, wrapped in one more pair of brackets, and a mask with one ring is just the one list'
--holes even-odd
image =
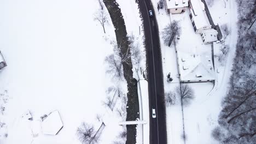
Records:
{"label": "long slanting snow-covered roof cut off by the top edge", "polygon": [[205,13],[205,5],[201,2],[201,0],[190,0],[190,3],[193,8],[193,10],[190,9],[190,11],[193,15],[196,28],[198,29],[205,26],[210,26]]}

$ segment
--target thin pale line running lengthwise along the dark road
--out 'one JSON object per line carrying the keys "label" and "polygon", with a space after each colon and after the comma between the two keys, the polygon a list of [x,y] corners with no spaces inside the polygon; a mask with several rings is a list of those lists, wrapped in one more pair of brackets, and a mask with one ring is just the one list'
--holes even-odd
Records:
{"label": "thin pale line running lengthwise along the dark road", "polygon": [[[144,1],[144,0],[143,0]],[[146,5],[146,9],[148,11],[147,8],[147,4],[144,1],[144,4]],[[151,3],[150,3],[151,4]],[[147,14],[148,15],[148,14]],[[155,60],[154,60],[154,48],[153,48],[153,39],[152,39],[152,31],[151,31],[151,24],[150,24],[150,17],[148,15],[148,21],[149,21],[149,27],[150,27],[150,37],[151,37],[151,44],[152,44],[152,52],[153,52],[153,69],[154,69],[154,84],[155,84]],[[156,99],[156,84],[155,84],[155,104],[156,104],[156,110],[158,110],[158,100]],[[156,112],[156,125],[158,127],[158,112]],[[159,130],[158,130],[158,144],[159,144]]]}

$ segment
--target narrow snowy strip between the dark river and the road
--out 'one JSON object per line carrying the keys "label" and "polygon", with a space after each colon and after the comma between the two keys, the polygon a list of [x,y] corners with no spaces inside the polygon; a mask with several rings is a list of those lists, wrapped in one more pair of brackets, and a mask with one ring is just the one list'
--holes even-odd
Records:
{"label": "narrow snowy strip between the dark river and the road", "polygon": [[137,143],[149,143],[149,102],[148,102],[148,82],[143,78],[143,71],[146,70],[146,51],[144,46],[144,32],[142,19],[139,14],[138,4],[135,0],[117,0],[121,13],[124,16],[126,31],[129,37],[133,37],[133,46],[138,46],[141,56],[140,61],[132,58],[133,77],[138,82],[139,111],[141,121],[147,124],[137,125]]}

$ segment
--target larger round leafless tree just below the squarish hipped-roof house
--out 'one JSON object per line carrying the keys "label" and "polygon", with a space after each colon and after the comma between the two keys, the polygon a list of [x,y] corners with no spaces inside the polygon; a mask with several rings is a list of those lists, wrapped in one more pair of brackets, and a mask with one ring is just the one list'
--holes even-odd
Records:
{"label": "larger round leafless tree just below the squarish hipped-roof house", "polygon": [[181,83],[181,86],[176,87],[176,92],[181,97],[182,105],[187,105],[194,99],[194,91],[188,84]]}

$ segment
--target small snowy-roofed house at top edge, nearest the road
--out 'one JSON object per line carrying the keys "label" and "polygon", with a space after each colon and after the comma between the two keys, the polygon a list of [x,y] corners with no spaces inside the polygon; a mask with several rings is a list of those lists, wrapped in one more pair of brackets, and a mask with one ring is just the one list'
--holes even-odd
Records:
{"label": "small snowy-roofed house at top edge, nearest the road", "polygon": [[188,0],[165,0],[165,6],[167,13],[183,13],[188,7]]}

